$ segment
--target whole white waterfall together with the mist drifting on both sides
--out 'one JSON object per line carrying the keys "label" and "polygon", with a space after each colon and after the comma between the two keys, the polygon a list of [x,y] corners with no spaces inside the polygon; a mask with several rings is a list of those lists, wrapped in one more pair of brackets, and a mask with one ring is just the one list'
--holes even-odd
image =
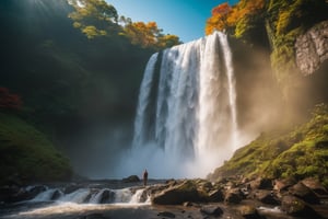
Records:
{"label": "whole white waterfall together with the mist drifting on both sides", "polygon": [[144,169],[152,178],[207,176],[282,122],[269,58],[222,33],[154,54],[134,128],[130,119],[87,126],[69,143],[75,171],[92,178],[142,177]]}

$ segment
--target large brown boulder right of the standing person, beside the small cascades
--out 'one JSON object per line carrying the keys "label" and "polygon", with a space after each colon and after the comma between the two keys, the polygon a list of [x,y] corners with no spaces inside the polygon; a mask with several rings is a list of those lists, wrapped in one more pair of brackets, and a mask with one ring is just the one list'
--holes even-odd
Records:
{"label": "large brown boulder right of the standing person, beside the small cascades", "polygon": [[156,205],[180,205],[185,201],[201,201],[201,197],[192,181],[184,181],[160,193],[155,193],[151,200],[152,204]]}

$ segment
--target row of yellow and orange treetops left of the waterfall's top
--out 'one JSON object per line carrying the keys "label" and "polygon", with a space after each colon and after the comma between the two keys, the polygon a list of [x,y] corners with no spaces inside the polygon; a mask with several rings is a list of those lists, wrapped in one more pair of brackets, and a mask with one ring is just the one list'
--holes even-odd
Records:
{"label": "row of yellow and orange treetops left of the waterfall's top", "polygon": [[70,0],[74,11],[69,14],[73,26],[87,38],[121,36],[142,48],[164,49],[180,44],[179,37],[163,34],[156,22],[132,22],[118,15],[114,5],[104,0]]}

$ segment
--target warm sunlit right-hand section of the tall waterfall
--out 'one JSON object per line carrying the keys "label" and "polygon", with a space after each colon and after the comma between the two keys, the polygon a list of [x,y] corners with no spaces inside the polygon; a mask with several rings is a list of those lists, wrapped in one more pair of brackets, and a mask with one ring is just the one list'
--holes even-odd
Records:
{"label": "warm sunlit right-hand section of the tall waterfall", "polygon": [[237,147],[236,89],[226,35],[215,33],[207,39],[199,73],[196,163],[209,172]]}

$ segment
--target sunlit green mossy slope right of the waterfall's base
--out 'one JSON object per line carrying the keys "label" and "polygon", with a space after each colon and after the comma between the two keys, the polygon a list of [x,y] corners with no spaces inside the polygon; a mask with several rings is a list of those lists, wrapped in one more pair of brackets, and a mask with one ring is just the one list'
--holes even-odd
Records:
{"label": "sunlit green mossy slope right of the waterfall's base", "polygon": [[292,130],[261,134],[253,142],[238,149],[231,160],[209,177],[316,177],[328,186],[327,124],[328,105],[319,104],[307,123]]}

